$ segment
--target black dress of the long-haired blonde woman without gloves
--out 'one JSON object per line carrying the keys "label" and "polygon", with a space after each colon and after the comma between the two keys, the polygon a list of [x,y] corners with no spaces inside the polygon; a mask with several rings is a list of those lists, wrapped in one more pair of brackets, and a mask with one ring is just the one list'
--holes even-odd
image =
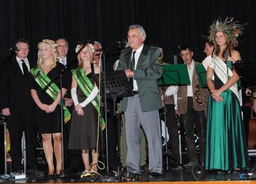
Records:
{"label": "black dress of the long-haired blonde woman without gloves", "polygon": [[[56,63],[56,67],[51,69],[50,72],[48,72],[47,76],[50,79],[54,79],[58,74],[61,73],[61,70],[64,68],[63,64]],[[62,80],[63,84],[62,87],[66,89],[66,82],[65,79]],[[60,78],[56,78],[54,83],[59,87],[60,89]],[[46,92],[43,92],[43,89],[33,80],[31,89],[37,90],[37,95],[42,103],[45,103],[47,105],[50,105],[53,103],[53,99],[46,94]],[[55,110],[51,113],[46,113],[44,110],[42,110],[40,107],[37,106],[36,113],[38,117],[38,132],[41,134],[44,133],[61,133],[61,108],[60,105],[57,105]]]}

